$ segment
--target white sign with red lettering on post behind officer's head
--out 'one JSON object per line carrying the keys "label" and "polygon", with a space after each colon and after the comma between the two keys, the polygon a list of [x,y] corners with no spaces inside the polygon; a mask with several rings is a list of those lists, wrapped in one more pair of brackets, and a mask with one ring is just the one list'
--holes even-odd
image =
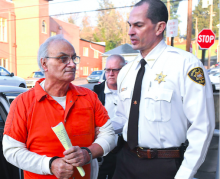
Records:
{"label": "white sign with red lettering on post behind officer's head", "polygon": [[166,34],[167,34],[167,37],[171,37],[171,46],[173,46],[174,37],[178,35],[178,20],[177,19],[172,19],[168,21]]}

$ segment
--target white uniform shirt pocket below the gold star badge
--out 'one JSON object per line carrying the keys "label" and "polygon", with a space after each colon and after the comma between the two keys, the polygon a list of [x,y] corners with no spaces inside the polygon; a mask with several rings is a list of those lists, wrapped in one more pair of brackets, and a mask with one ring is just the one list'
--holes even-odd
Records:
{"label": "white uniform shirt pocket below the gold star badge", "polygon": [[150,89],[144,96],[145,117],[149,121],[165,122],[171,118],[171,99],[173,90]]}

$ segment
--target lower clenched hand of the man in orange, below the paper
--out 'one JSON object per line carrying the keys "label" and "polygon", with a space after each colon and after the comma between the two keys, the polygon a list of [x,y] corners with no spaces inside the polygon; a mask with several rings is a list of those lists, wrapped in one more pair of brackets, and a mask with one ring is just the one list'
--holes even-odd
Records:
{"label": "lower clenched hand of the man in orange, below the paper", "polygon": [[59,179],[68,179],[73,175],[73,168],[64,158],[57,158],[52,162],[51,172]]}

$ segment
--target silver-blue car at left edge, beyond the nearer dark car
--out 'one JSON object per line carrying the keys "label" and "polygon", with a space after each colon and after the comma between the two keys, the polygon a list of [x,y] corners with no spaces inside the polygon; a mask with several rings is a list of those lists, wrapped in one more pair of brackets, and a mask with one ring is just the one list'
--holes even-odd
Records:
{"label": "silver-blue car at left edge, beyond the nearer dark car", "polygon": [[26,88],[25,79],[18,76],[14,76],[14,73],[10,73],[4,67],[0,66],[0,85],[9,85]]}

